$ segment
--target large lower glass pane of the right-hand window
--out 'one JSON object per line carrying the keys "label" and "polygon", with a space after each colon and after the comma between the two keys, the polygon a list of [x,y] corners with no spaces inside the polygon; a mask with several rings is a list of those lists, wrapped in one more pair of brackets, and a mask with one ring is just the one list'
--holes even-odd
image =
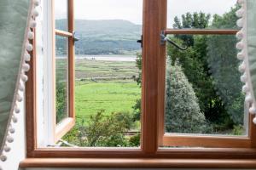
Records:
{"label": "large lower glass pane of the right-hand window", "polygon": [[168,46],[166,133],[247,135],[248,108],[234,36],[172,36],[186,51]]}

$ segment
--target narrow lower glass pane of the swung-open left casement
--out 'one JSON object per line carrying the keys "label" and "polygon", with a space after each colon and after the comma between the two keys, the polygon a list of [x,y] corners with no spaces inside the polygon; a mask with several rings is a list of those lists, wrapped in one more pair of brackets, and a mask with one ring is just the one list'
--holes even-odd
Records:
{"label": "narrow lower glass pane of the swung-open left casement", "polygon": [[56,123],[68,117],[67,37],[55,37],[55,109]]}

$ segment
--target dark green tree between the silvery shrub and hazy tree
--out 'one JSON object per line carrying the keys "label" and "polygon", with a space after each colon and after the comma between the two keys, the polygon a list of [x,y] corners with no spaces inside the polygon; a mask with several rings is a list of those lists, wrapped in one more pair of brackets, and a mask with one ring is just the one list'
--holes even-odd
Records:
{"label": "dark green tree between the silvery shrub and hazy tree", "polygon": [[[177,28],[207,28],[209,27],[209,19],[209,14],[187,13],[182,16],[182,22],[176,17],[174,26]],[[189,45],[189,48],[182,52],[170,46],[168,47],[168,55],[172,59],[172,65],[178,60],[182,66],[185,76],[189,79],[195,90],[201,111],[206,116],[207,121],[226,124],[226,128],[232,127],[233,121],[227,113],[223,100],[218,95],[218,89],[214,86],[214,80],[209,68],[208,37],[200,35],[175,37],[177,38],[175,41],[186,43]],[[212,50],[216,49],[212,48]]]}

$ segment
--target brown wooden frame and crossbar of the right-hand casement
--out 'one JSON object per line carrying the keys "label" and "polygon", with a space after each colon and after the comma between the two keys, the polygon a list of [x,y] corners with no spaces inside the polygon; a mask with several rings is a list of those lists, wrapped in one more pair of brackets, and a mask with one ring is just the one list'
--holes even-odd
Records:
{"label": "brown wooden frame and crossbar of the right-hand casement", "polygon": [[[234,35],[239,30],[211,30],[211,29],[166,29],[165,35]],[[162,63],[163,64],[163,63]],[[163,64],[164,65],[164,64]],[[166,68],[165,68],[166,69]],[[162,69],[164,71],[164,69]],[[165,89],[164,86],[162,88]],[[163,93],[163,92],[162,92]],[[160,115],[160,145],[186,146],[186,147],[218,147],[218,148],[254,148],[256,146],[256,128],[253,116],[248,113],[247,136],[228,135],[196,135],[181,133],[165,133],[165,115]]]}

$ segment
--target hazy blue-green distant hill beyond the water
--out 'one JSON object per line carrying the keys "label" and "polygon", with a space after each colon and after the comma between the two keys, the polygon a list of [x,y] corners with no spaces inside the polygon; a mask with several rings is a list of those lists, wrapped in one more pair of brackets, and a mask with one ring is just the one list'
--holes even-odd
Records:
{"label": "hazy blue-green distant hill beyond the water", "polygon": [[[59,30],[67,30],[66,20],[56,20]],[[76,54],[135,54],[140,49],[137,40],[142,26],[127,20],[75,20]],[[64,44],[57,37],[56,49],[63,54]]]}

